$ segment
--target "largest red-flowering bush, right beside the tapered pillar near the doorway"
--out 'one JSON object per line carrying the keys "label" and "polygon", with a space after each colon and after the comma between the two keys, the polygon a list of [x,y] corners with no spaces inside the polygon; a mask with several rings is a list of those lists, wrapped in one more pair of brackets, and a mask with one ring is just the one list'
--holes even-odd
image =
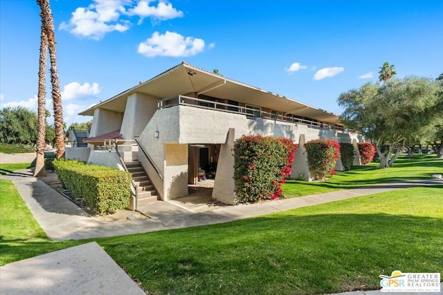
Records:
{"label": "largest red-flowering bush, right beside the tapered pillar near the doorway", "polygon": [[298,146],[287,138],[245,135],[234,145],[235,194],[239,202],[276,199],[291,175]]}

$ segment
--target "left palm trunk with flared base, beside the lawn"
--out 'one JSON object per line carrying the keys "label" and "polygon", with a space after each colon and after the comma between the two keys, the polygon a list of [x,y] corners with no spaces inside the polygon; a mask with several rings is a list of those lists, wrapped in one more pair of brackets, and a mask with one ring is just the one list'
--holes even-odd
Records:
{"label": "left palm trunk with flared base, beside the lawn", "polygon": [[37,123],[37,160],[35,161],[34,177],[46,176],[44,169],[44,148],[46,145],[46,59],[48,58],[48,35],[42,23],[39,57],[39,90],[38,90],[38,123]]}

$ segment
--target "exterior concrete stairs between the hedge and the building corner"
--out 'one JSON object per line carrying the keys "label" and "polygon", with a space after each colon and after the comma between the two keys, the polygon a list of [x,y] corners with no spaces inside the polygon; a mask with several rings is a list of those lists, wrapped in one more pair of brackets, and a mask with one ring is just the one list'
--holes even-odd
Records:
{"label": "exterior concrete stairs between the hedge and the building corner", "polygon": [[[138,161],[128,161],[125,162],[125,165],[127,171],[132,175],[132,180],[134,180],[134,183],[137,186],[136,196],[138,199],[138,206],[156,202],[157,191],[141,163]],[[132,204],[132,207],[135,209],[135,204]]]}

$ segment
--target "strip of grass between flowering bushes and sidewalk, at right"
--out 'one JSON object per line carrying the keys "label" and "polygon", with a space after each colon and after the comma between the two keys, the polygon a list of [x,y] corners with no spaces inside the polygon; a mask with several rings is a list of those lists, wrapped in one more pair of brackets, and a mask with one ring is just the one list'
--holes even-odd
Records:
{"label": "strip of grass between flowering bushes and sidewalk, at right", "polygon": [[334,177],[325,182],[287,180],[282,185],[283,195],[286,198],[308,196],[383,182],[428,179],[435,173],[443,173],[443,159],[437,159],[435,155],[415,155],[415,158],[409,159],[404,154],[392,168],[377,169],[377,166],[378,163],[353,166],[350,171],[337,171]]}

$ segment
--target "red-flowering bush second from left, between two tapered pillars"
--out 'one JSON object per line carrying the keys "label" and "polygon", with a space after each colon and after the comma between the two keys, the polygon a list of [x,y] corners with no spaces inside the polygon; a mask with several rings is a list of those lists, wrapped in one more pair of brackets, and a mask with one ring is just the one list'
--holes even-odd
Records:
{"label": "red-flowering bush second from left, between two tapered pillars", "polygon": [[340,155],[340,144],[336,140],[311,140],[305,143],[305,148],[309,171],[315,179],[334,175]]}

